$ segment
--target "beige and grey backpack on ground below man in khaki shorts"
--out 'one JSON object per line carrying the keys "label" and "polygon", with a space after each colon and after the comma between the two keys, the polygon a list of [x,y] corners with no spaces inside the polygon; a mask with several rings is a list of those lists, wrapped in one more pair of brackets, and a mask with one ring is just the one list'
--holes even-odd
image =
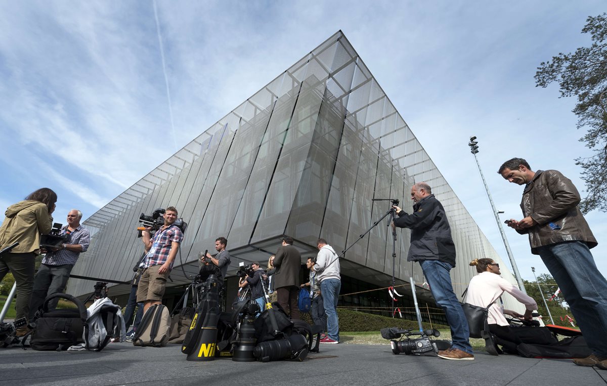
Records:
{"label": "beige and grey backpack on ground below man in khaki shorts", "polygon": [[141,318],[133,345],[163,347],[171,336],[171,314],[162,304],[154,304]]}

